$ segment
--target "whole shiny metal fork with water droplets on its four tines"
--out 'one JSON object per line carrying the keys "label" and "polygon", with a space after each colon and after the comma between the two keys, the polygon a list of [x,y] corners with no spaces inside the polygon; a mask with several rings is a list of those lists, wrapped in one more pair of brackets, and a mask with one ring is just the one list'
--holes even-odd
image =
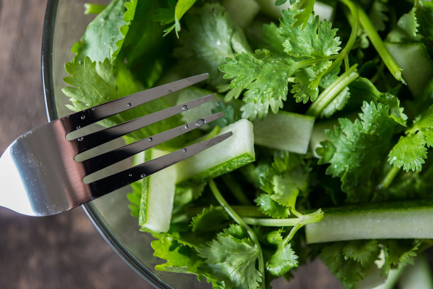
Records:
{"label": "whole shiny metal fork with water droplets on its four tines", "polygon": [[47,216],[61,213],[119,188],[129,185],[207,149],[232,135],[231,132],[178,149],[107,177],[85,183],[84,177],[160,143],[180,136],[220,117],[216,113],[191,123],[166,130],[98,156],[76,161],[75,156],[92,148],[156,123],[214,99],[210,94],[169,107],[134,120],[80,135],[68,140],[68,133],[86,127],[124,110],[145,104],[158,97],[209,78],[195,75],[45,123],[19,136],[0,158],[0,206],[21,214]]}

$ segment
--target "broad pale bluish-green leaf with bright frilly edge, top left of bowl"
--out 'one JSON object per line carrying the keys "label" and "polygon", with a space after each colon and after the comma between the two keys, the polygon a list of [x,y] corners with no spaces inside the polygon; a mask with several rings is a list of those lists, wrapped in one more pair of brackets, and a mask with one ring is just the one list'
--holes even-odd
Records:
{"label": "broad pale bluish-green leaf with bright frilly edge, top left of bowl", "polygon": [[127,11],[127,19],[124,20],[125,0],[111,1],[89,23],[80,41],[75,42],[72,46],[72,52],[75,53],[74,59],[77,59],[81,64],[86,56],[94,61],[102,62],[105,58],[108,58],[112,62],[116,58],[128,30],[126,20],[130,20],[130,15],[135,10],[134,4],[128,4],[128,8],[131,11]]}

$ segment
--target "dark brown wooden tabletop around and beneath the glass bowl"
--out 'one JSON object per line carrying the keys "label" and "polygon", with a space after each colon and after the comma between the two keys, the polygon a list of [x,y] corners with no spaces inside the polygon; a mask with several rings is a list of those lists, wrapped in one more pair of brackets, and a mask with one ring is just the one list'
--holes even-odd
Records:
{"label": "dark brown wooden tabletop around and beneath the glass bowl", "polygon": [[[40,71],[45,4],[0,0],[0,153],[46,122]],[[341,288],[322,263],[312,266],[286,288]],[[81,208],[33,218],[0,207],[0,289],[59,288],[152,287],[114,253]]]}

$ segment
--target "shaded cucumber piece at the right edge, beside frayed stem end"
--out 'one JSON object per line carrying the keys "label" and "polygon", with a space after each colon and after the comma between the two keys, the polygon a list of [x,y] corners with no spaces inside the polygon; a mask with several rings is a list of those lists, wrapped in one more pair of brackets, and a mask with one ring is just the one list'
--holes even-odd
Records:
{"label": "shaded cucumber piece at the right edge, beside frayed stem end", "polygon": [[[433,77],[433,62],[422,43],[385,43],[398,66],[401,75],[414,96],[420,95]],[[410,55],[410,57],[408,57]]]}

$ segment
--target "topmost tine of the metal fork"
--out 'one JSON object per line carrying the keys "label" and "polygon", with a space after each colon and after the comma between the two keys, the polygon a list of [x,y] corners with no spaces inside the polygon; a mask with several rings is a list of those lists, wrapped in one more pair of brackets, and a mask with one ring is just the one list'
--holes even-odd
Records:
{"label": "topmost tine of the metal fork", "polygon": [[67,116],[70,123],[70,131],[77,130],[77,127],[85,127],[104,118],[118,114],[124,110],[145,104],[149,101],[186,88],[200,81],[209,78],[208,73],[191,76],[168,84],[163,84],[145,91],[117,98],[113,101],[106,102],[83,111],[76,112]]}

